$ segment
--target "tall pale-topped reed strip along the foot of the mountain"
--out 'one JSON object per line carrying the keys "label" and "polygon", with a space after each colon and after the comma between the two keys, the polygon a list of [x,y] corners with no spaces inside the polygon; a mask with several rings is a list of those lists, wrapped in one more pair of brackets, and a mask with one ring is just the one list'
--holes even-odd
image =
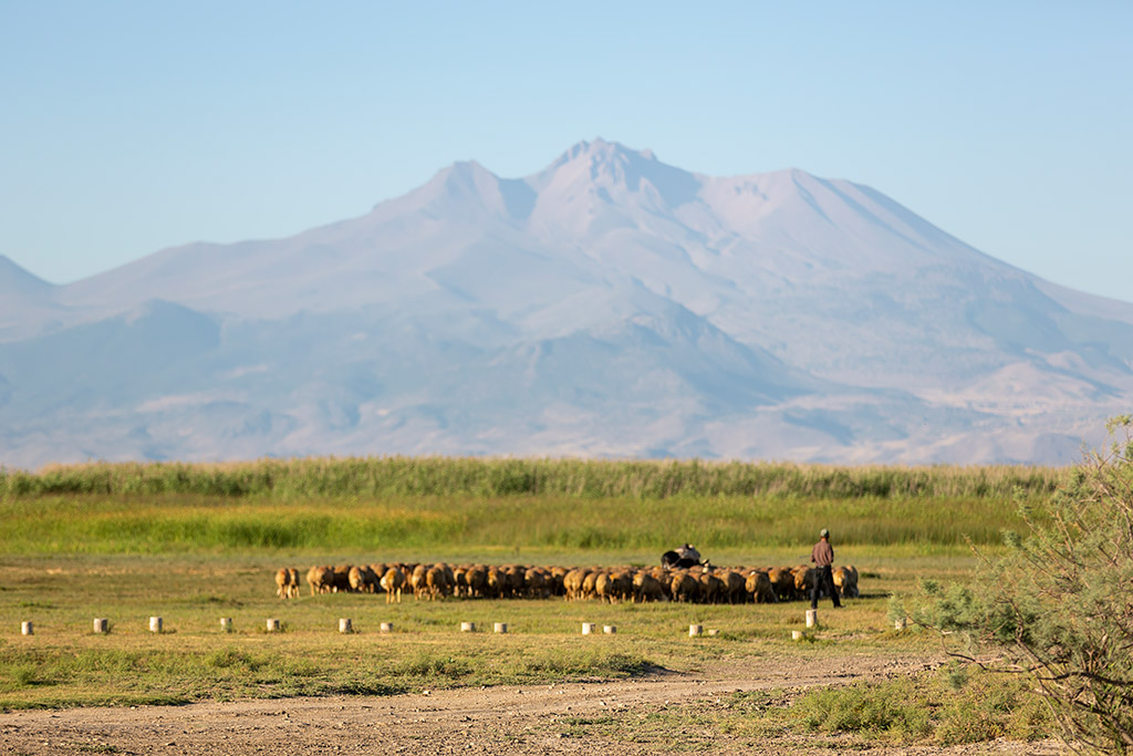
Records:
{"label": "tall pale-topped reed strip along the foot of the mountain", "polygon": [[0,498],[195,494],[224,498],[681,496],[833,499],[1043,495],[1068,468],[861,466],[704,460],[326,457],[246,462],[91,462],[0,468]]}

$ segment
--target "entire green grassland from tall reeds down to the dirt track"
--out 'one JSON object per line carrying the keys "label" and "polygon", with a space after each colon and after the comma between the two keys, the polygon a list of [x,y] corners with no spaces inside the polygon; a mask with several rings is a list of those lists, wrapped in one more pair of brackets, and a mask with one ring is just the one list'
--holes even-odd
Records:
{"label": "entire green grassland from tall reeds down to the dirt track", "polygon": [[[1020,526],[1016,500],[1048,495],[1064,475],[412,459],[8,470],[0,474],[0,707],[382,695],[695,671],[763,656],[936,653],[930,634],[892,629],[888,596],[920,577],[970,575],[973,546],[995,553],[1000,532]],[[299,600],[274,595],[281,566],[655,564],[687,541],[716,564],[795,564],[820,527],[834,533],[837,562],[858,566],[862,597],[823,612],[823,627],[802,644],[790,639],[802,627],[799,602],[407,597],[387,605],[373,595],[313,597],[306,587]],[[148,631],[151,615],[163,618],[164,632]],[[111,620],[110,635],[92,632],[95,617]],[[221,630],[221,617],[233,619],[235,632]],[[355,634],[337,631],[343,617]],[[266,632],[267,618],[284,631]],[[33,636],[19,634],[24,620],[35,623]],[[394,632],[380,634],[383,621]],[[462,634],[461,621],[508,622],[511,631]],[[615,625],[617,635],[582,638],[583,621]],[[693,622],[719,635],[689,638]]]}

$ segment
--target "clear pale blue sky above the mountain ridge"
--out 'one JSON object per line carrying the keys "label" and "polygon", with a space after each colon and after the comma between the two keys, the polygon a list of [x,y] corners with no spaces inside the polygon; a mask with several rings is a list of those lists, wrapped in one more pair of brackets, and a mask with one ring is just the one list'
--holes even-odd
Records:
{"label": "clear pale blue sky above the mountain ridge", "polygon": [[1133,3],[0,0],[0,255],[67,283],[581,139],[866,184],[1133,300]]}

